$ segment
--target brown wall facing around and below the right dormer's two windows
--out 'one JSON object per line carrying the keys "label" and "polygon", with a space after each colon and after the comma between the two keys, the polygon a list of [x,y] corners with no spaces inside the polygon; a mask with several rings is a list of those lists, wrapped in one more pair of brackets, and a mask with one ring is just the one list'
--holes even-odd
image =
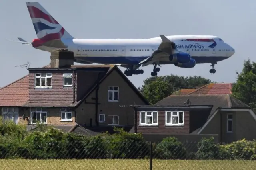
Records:
{"label": "brown wall facing around and below the right dormer's two windows", "polygon": [[184,126],[166,126],[165,110],[158,111],[158,125],[140,125],[140,111],[137,112],[137,133],[165,133],[165,134],[188,134],[189,133],[189,111],[184,111]]}

